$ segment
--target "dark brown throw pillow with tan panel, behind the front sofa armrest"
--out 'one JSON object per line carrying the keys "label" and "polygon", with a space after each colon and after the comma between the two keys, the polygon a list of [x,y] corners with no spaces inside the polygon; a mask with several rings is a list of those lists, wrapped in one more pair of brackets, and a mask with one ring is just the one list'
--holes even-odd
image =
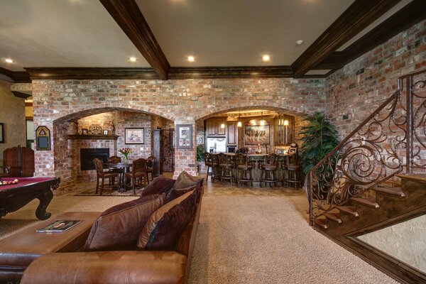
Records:
{"label": "dark brown throw pillow with tan panel, behind the front sofa armrest", "polygon": [[169,251],[187,226],[195,210],[197,189],[185,193],[157,209],[139,235],[136,249]]}

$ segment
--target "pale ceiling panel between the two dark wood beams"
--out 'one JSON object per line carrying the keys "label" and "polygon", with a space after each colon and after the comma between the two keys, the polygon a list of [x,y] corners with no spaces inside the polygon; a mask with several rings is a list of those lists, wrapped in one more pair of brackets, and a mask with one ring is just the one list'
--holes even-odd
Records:
{"label": "pale ceiling panel between the two dark wood beams", "polygon": [[170,65],[190,67],[291,65],[354,0],[136,2]]}

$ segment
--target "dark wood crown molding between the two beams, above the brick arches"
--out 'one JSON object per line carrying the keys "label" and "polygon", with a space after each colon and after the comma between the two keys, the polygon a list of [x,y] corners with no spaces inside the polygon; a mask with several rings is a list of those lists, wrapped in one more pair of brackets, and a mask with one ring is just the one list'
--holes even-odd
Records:
{"label": "dark wood crown molding between the two beams, above the brick arches", "polygon": [[293,77],[290,66],[171,67],[170,79]]}

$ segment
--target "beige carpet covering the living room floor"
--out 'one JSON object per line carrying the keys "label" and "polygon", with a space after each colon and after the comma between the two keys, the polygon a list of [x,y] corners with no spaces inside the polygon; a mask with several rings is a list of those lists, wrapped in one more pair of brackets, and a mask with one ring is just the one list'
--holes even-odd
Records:
{"label": "beige carpet covering the living room floor", "polygon": [[[134,198],[68,194],[54,197],[48,211],[102,211]],[[37,204],[0,219],[0,238],[36,222]],[[189,283],[397,283],[310,228],[306,207],[295,190],[204,196]]]}

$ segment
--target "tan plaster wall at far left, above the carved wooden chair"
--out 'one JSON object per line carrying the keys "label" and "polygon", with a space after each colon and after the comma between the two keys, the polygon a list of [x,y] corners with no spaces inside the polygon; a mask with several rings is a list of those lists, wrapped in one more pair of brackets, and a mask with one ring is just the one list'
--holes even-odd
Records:
{"label": "tan plaster wall at far left, above the carved wooden chair", "polygon": [[0,165],[3,151],[18,145],[26,146],[25,102],[13,96],[11,84],[0,81],[0,123],[4,124],[6,143],[0,143]]}

